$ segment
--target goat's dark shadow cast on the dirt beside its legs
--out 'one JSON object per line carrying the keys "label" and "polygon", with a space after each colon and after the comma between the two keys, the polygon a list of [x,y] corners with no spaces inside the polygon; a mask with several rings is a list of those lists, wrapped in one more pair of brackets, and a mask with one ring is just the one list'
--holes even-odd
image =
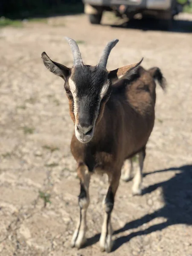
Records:
{"label": "goat's dark shadow cast on the dirt beside its legs", "polygon": [[[113,251],[135,236],[149,234],[174,224],[192,225],[192,165],[157,170],[144,173],[143,176],[145,177],[146,175],[152,175],[157,172],[163,173],[176,170],[179,170],[180,173],[176,173],[175,176],[169,180],[151,185],[143,191],[143,195],[145,195],[158,187],[162,187],[165,206],[152,214],[147,214],[140,219],[126,223],[124,227],[114,231],[113,234],[119,234],[126,230],[137,228],[157,217],[164,217],[167,220],[163,223],[151,226],[148,229],[133,232],[128,236],[120,236],[115,240]],[[100,234],[96,234],[87,239],[86,246],[99,241],[99,237]]]}

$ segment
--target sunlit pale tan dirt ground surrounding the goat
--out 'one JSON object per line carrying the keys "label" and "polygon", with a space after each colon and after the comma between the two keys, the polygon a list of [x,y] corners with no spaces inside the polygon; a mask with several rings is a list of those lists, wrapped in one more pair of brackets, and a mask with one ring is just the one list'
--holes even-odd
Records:
{"label": "sunlit pale tan dirt ground surrounding the goat", "polygon": [[[118,38],[109,70],[144,57],[143,67],[160,67],[169,84],[166,94],[157,87],[143,195],[131,195],[132,182],[120,183],[111,255],[192,256],[192,34],[107,22],[106,17],[103,26],[91,26],[87,17],[75,15],[0,30],[1,256],[106,255],[98,243],[105,176],[91,180],[87,244],[70,248],[79,214],[79,180],[70,154],[73,123],[62,79],[41,60],[46,51],[53,60],[72,65],[64,36],[79,43],[86,64],[96,64],[105,44]],[[44,207],[44,201],[51,203]]]}

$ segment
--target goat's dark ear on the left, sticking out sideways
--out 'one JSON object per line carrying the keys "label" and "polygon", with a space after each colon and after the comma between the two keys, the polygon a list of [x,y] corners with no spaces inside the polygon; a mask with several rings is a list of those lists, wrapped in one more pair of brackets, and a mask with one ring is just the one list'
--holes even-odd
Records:
{"label": "goat's dark ear on the left, sticking out sideways", "polygon": [[55,61],[52,61],[49,56],[46,54],[46,52],[43,52],[41,54],[41,58],[44,61],[45,67],[52,73],[54,73],[57,76],[60,76],[62,79],[66,79],[67,76],[70,75],[70,68],[65,67],[62,64],[59,64]]}

